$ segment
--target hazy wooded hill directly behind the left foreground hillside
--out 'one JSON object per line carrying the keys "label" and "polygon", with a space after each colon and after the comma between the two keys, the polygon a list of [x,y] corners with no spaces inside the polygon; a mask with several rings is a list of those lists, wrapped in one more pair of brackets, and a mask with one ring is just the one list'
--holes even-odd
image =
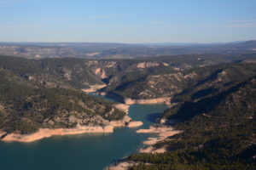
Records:
{"label": "hazy wooded hill directly behind the left foreground hillside", "polygon": [[0,56],[0,68],[45,88],[89,88],[102,84],[84,59],[21,59]]}

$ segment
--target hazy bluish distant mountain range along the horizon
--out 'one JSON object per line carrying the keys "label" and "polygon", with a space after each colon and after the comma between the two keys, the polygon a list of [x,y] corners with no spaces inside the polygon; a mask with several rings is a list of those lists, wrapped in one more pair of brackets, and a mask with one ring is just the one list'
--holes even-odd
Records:
{"label": "hazy bluish distant mountain range along the horizon", "polygon": [[0,42],[0,54],[27,59],[134,59],[175,54],[256,53],[256,41],[229,43]]}

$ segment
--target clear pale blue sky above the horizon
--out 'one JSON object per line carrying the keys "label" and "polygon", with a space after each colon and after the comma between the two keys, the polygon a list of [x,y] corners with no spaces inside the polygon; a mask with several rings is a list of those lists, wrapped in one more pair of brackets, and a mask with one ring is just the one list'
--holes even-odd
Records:
{"label": "clear pale blue sky above the horizon", "polygon": [[0,0],[0,42],[256,39],[256,0]]}

